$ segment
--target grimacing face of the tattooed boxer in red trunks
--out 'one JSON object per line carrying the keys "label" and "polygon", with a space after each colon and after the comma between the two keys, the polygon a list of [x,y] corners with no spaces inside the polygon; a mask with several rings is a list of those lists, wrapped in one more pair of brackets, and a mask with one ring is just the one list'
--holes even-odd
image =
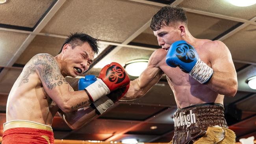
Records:
{"label": "grimacing face of the tattooed boxer in red trunks", "polygon": [[88,70],[93,63],[94,52],[88,42],[84,42],[82,46],[76,46],[72,49],[71,44],[67,48],[63,48],[63,60],[65,61],[65,73],[67,76],[75,78]]}

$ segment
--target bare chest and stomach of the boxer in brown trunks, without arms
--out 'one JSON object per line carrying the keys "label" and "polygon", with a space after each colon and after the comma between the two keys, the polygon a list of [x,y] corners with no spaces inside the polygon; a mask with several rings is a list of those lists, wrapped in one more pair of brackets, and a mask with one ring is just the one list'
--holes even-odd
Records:
{"label": "bare chest and stomach of the boxer in brown trunks, without arms", "polygon": [[[209,51],[203,47],[209,40],[199,40],[198,45],[194,45],[198,55],[204,63],[211,66],[208,59]],[[211,90],[206,85],[200,84],[194,78],[183,72],[179,67],[172,68],[165,62],[167,52],[163,49],[156,51],[156,59],[159,59],[158,66],[166,75],[167,81],[173,90],[174,97],[178,108],[187,107],[199,103],[221,103],[223,104],[224,96]]]}

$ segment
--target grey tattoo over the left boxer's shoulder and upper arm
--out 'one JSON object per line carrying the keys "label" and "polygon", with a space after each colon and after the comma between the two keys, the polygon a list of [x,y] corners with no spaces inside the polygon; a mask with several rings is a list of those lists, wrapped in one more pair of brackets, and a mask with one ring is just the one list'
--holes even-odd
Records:
{"label": "grey tattoo over the left boxer's shoulder and upper arm", "polygon": [[50,54],[38,54],[34,56],[28,67],[22,76],[20,85],[28,82],[28,76],[32,72],[35,72],[35,67],[37,67],[41,80],[45,82],[48,89],[52,90],[56,86],[67,83],[66,79],[61,75],[58,63]]}

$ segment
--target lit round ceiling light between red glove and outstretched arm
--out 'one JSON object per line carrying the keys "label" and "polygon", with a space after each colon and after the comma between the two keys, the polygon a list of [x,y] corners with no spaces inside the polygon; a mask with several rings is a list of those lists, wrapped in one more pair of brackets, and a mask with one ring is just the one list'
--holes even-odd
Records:
{"label": "lit round ceiling light between red glove and outstretched arm", "polygon": [[135,59],[128,61],[124,68],[130,76],[139,76],[147,68],[148,59]]}

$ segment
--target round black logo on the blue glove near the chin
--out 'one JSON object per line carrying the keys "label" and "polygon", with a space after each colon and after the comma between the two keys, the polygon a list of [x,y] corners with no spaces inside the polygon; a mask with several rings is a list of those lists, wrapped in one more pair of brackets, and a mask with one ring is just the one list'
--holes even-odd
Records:
{"label": "round black logo on the blue glove near the chin", "polygon": [[195,49],[187,43],[181,43],[176,46],[176,56],[184,63],[191,63],[195,60]]}

